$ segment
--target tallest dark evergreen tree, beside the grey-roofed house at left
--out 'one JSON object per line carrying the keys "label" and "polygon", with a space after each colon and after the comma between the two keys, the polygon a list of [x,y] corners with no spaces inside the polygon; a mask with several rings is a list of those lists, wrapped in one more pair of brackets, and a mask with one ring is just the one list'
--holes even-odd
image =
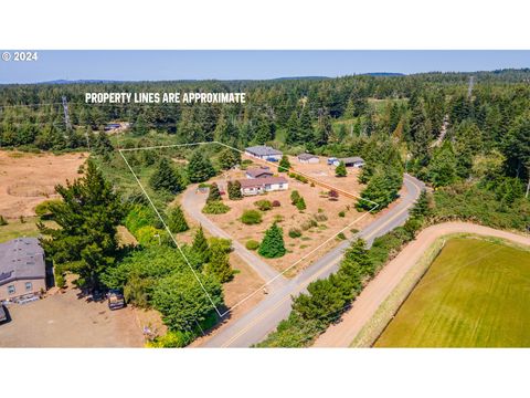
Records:
{"label": "tallest dark evergreen tree, beside the grey-roofed house at left", "polygon": [[116,228],[125,216],[121,201],[91,160],[84,177],[55,190],[63,200],[50,202],[49,210],[60,228],[39,222],[45,237],[41,244],[56,265],[80,274],[82,285],[96,287],[116,260]]}

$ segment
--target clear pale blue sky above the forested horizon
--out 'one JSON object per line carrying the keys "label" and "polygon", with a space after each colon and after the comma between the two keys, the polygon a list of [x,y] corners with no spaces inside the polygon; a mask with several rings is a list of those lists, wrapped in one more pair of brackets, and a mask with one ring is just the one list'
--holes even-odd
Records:
{"label": "clear pale blue sky above the forested horizon", "polygon": [[[3,50],[0,52],[4,53]],[[0,84],[54,80],[264,80],[371,72],[475,72],[530,67],[530,51],[38,51],[0,60]]]}

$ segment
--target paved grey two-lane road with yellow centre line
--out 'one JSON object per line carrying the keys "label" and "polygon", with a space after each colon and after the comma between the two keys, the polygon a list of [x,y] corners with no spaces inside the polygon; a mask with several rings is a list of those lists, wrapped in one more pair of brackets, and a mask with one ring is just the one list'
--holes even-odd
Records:
{"label": "paved grey two-lane road with yellow centre line", "polygon": [[[377,219],[359,232],[359,235],[368,244],[371,244],[374,238],[402,224],[409,217],[407,210],[418,197],[424,185],[409,175],[405,175],[404,184],[406,193],[401,202],[389,211],[385,217]],[[337,271],[342,253],[348,247],[349,241],[344,241],[329,251],[295,279],[286,281],[283,286],[269,293],[266,298],[261,301],[244,316],[209,339],[204,346],[250,347],[263,341],[282,320],[289,315],[292,295],[304,291],[310,282]]]}

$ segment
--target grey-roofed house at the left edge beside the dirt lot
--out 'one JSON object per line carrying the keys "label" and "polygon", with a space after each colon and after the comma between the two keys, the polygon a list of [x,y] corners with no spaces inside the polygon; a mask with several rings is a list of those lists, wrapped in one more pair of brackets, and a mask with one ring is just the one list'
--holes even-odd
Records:
{"label": "grey-roofed house at the left edge beside the dirt lot", "polygon": [[36,238],[0,243],[0,301],[39,294],[46,290],[44,250]]}

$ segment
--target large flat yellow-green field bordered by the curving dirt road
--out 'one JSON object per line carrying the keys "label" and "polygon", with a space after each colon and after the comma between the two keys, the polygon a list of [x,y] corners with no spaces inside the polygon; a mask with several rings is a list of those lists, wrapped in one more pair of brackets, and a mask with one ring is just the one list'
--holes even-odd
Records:
{"label": "large flat yellow-green field bordered by the curving dirt road", "polygon": [[447,241],[375,347],[530,347],[530,252]]}

